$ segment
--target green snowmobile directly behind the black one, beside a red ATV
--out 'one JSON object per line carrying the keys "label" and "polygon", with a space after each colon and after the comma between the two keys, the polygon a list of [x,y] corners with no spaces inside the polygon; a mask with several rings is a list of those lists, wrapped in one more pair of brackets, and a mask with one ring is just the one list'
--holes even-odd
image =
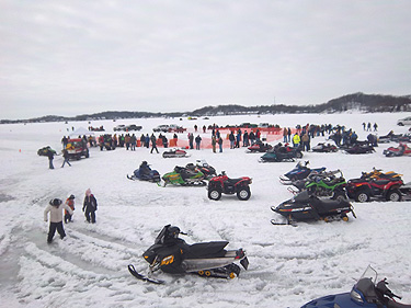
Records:
{"label": "green snowmobile directly behind the black one, beside a red ATV", "polygon": [[[339,176],[335,176],[339,174]],[[301,184],[302,182],[302,184]],[[311,173],[304,181],[294,183],[295,190],[288,187],[294,194],[298,194],[301,191],[308,191],[310,194],[316,196],[330,196],[332,199],[347,198],[345,193],[346,181],[341,170]]]}

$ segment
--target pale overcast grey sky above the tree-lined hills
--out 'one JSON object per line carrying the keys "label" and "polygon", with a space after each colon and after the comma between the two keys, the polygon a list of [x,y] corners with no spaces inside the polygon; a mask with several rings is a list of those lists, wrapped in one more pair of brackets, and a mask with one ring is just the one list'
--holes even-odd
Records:
{"label": "pale overcast grey sky above the tree-lined hills", "polygon": [[0,0],[0,118],[411,94],[411,1]]}

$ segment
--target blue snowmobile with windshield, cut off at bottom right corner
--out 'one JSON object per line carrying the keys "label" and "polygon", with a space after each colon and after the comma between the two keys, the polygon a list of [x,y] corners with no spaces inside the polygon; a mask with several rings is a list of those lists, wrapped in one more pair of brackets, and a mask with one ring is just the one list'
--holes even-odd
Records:
{"label": "blue snowmobile with windshield, cut off at bottom right corner", "polygon": [[397,303],[401,299],[388,287],[387,278],[377,283],[377,272],[368,265],[350,293],[328,295],[305,304],[301,308],[411,308],[411,305]]}

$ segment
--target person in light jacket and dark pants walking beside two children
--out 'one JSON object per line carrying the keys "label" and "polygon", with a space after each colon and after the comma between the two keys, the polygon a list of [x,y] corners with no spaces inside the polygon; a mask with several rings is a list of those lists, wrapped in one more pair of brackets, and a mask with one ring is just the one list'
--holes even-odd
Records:
{"label": "person in light jacket and dark pants walking beside two children", "polygon": [[54,198],[44,209],[44,221],[48,221],[48,213],[50,213],[50,225],[48,228],[47,242],[53,241],[54,235],[57,232],[60,235],[60,239],[66,237],[65,228],[62,226],[62,209],[65,208],[71,215],[73,214],[72,209],[67,205],[62,204],[62,201],[59,198]]}

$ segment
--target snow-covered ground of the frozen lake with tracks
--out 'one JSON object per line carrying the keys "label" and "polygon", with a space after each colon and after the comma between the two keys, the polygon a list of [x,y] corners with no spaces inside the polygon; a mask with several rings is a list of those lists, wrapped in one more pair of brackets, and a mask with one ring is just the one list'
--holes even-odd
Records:
{"label": "snow-covered ground of the frozen lake with tracks", "polygon": [[[381,135],[390,129],[404,133],[408,127],[398,127],[396,122],[407,115],[244,115],[101,121],[91,125],[104,125],[112,133],[117,124],[136,123],[151,134],[152,127],[172,123],[190,132],[194,124],[269,122],[293,127],[331,123],[351,127],[365,139],[368,133],[363,132],[363,122],[377,122]],[[290,197],[278,175],[293,169],[293,162],[259,163],[260,155],[246,153],[244,148],[225,149],[222,153],[192,150],[191,158],[181,159],[163,159],[145,148],[134,152],[92,148],[89,159],[62,169],[59,156],[56,169],[48,170],[47,158],[38,157],[37,149],[49,145],[59,150],[60,139],[71,126],[88,127],[89,123],[0,125],[2,307],[300,307],[316,297],[350,290],[368,264],[388,277],[390,288],[403,296],[403,303],[411,303],[410,202],[353,203],[357,219],[351,216],[349,223],[273,226],[270,219],[275,214],[270,207]],[[180,138],[186,139],[186,134]],[[311,146],[322,140],[315,138]],[[386,147],[363,156],[308,152],[304,160],[312,168],[341,169],[346,179],[376,167],[400,172],[406,182],[411,181],[410,158],[386,158]],[[205,187],[159,187],[126,179],[142,160],[163,174],[196,159],[205,159],[231,178],[251,176],[251,198],[240,202],[224,195],[213,202]],[[89,187],[99,202],[95,225],[85,224],[81,212]],[[56,236],[54,243],[47,244],[48,224],[43,221],[43,210],[49,199],[66,199],[70,194],[76,195],[75,223],[65,226],[68,237],[64,241]],[[161,286],[136,281],[127,264],[146,269],[140,255],[167,224],[187,231],[189,243],[228,240],[228,248],[242,247],[249,255],[249,271],[233,281],[164,274],[160,277],[167,284]]]}

